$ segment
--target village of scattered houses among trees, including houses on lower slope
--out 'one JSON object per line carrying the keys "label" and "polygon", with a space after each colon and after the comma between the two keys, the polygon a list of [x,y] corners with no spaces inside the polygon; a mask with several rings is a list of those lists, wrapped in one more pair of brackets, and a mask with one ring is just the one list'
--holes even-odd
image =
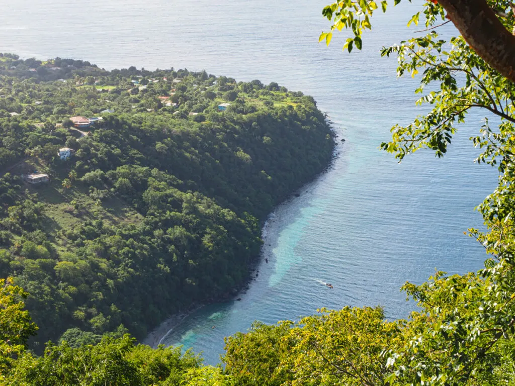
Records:
{"label": "village of scattered houses among trees, including houses on lower slope", "polygon": [[[80,141],[104,127],[104,117],[112,114],[159,112],[193,122],[218,121],[217,114],[251,113],[265,105],[295,108],[302,97],[302,93],[290,93],[277,83],[268,86],[257,80],[236,83],[232,78],[216,78],[205,72],[190,74],[187,70],[174,69],[150,72],[134,67],[108,72],[80,60],[20,60],[16,55],[2,53],[0,76],[4,77],[0,82],[0,118],[30,122],[42,136],[54,133],[68,138],[68,144],[75,143],[70,138]],[[9,76],[25,80],[14,88]],[[57,93],[46,94],[42,81],[53,82]],[[52,147],[54,150],[48,144],[40,144],[27,151],[43,150],[47,159],[55,154],[59,160],[67,161],[78,150],[73,146]],[[14,155],[4,165],[13,164],[16,159],[19,161],[20,157]],[[51,174],[47,174],[44,166],[36,166],[21,168],[24,181],[34,185],[48,182]],[[31,168],[37,170],[28,171]]]}

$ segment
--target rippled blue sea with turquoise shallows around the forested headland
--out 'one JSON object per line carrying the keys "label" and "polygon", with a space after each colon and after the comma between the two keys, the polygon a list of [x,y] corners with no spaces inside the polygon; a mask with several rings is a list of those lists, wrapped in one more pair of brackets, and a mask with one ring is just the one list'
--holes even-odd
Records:
{"label": "rippled blue sea with turquoise shallows around the forested headland", "polygon": [[468,138],[482,116],[469,116],[444,159],[421,151],[398,164],[378,149],[393,124],[426,111],[414,103],[418,79],[397,79],[396,59],[379,54],[414,33],[417,27],[405,26],[421,1],[374,16],[363,51],[351,55],[341,50],[345,32],[329,48],[317,44],[328,27],[326,3],[0,0],[0,51],[276,81],[315,97],[346,139],[327,173],[270,214],[259,276],[236,296],[242,300],[204,307],[163,338],[202,351],[210,364],[223,338],[254,320],[276,323],[346,305],[381,305],[388,318],[405,318],[415,307],[399,291],[406,280],[421,283],[435,268],[477,270],[486,258],[463,234],[482,225],[474,206],[497,181],[494,169],[473,163],[478,150]]}

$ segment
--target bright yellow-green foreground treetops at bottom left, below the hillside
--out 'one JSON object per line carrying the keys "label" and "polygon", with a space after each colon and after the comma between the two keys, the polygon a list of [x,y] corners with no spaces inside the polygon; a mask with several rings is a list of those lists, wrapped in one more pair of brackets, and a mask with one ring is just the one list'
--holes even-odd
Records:
{"label": "bright yellow-green foreground treetops at bottom left, below the hillside", "polygon": [[[191,352],[180,348],[152,349],[136,345],[128,334],[104,336],[98,344],[71,347],[67,341],[48,343],[42,356],[28,351],[27,339],[36,333],[20,298],[27,296],[12,279],[1,280],[0,292],[0,384],[32,385],[217,385],[230,386],[230,376],[219,368],[202,367]],[[119,330],[119,332],[123,332]]]}

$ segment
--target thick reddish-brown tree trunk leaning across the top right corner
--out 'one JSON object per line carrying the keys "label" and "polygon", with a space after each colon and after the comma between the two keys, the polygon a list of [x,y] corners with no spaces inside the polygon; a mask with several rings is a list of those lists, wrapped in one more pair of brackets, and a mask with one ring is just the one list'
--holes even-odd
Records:
{"label": "thick reddish-brown tree trunk leaning across the top right corner", "polygon": [[438,0],[461,36],[485,62],[515,82],[515,36],[485,0]]}

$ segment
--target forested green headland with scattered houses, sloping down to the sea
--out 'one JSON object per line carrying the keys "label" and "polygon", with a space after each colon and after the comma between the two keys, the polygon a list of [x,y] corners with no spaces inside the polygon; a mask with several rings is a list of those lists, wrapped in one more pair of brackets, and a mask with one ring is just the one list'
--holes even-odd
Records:
{"label": "forested green headland with scattered houses, sloping down to the sea", "polygon": [[0,274],[30,293],[34,347],[142,338],[230,294],[333,146],[313,98],[276,83],[0,55]]}

